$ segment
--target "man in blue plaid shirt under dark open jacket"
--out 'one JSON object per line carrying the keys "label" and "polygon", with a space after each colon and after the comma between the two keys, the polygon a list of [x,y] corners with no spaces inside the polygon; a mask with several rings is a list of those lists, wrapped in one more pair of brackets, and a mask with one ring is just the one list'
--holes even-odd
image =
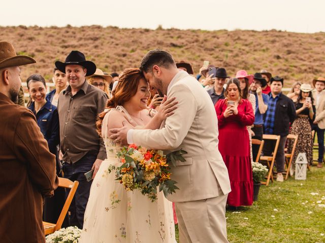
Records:
{"label": "man in blue plaid shirt under dark open jacket", "polygon": [[[280,135],[280,143],[276,153],[276,169],[279,182],[283,182],[284,145],[289,134],[289,125],[296,118],[296,108],[291,99],[282,94],[283,78],[271,77],[271,93],[268,110],[265,113],[264,134]],[[263,148],[264,155],[271,155],[275,142],[266,140]]]}

